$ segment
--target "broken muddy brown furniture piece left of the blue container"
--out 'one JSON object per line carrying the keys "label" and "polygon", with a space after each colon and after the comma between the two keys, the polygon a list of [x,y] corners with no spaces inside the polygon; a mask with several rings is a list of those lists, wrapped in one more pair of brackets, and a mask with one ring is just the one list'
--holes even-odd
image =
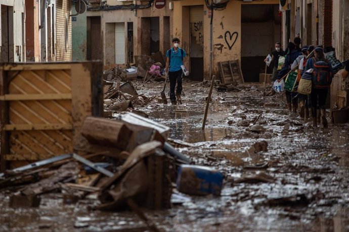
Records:
{"label": "broken muddy brown furniture piece left of the blue container", "polygon": [[158,141],[138,146],[114,177],[101,186],[102,204],[97,209],[122,209],[129,198],[148,209],[170,208],[175,168],[173,159],[161,147]]}

